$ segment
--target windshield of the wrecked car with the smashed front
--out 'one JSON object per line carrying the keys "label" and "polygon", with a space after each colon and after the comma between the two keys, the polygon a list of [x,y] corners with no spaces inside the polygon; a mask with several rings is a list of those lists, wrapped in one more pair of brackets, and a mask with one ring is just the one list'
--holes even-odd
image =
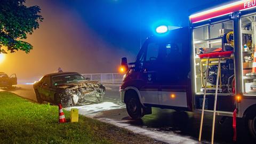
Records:
{"label": "windshield of the wrecked car with the smashed front", "polygon": [[52,77],[52,84],[56,86],[56,85],[75,83],[75,82],[80,82],[85,80],[86,79],[79,74],[59,75],[59,76]]}

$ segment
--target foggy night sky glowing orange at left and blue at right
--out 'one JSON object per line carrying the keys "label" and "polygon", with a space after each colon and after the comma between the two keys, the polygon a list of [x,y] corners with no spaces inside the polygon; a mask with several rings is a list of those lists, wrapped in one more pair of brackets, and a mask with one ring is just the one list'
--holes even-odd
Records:
{"label": "foggy night sky glowing orange at left and blue at right", "polygon": [[58,67],[117,73],[121,57],[132,62],[156,22],[188,26],[190,13],[223,2],[227,1],[27,0],[27,6],[40,6],[44,17],[26,40],[34,50],[7,54],[0,71],[17,73],[18,79],[52,73]]}

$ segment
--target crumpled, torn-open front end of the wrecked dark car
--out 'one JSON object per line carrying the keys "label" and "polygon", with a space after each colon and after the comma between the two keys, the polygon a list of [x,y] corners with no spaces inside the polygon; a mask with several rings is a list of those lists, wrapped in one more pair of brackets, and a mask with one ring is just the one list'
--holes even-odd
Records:
{"label": "crumpled, torn-open front end of the wrecked dark car", "polygon": [[88,102],[101,102],[106,88],[96,81],[60,86],[59,101],[63,107],[84,105]]}

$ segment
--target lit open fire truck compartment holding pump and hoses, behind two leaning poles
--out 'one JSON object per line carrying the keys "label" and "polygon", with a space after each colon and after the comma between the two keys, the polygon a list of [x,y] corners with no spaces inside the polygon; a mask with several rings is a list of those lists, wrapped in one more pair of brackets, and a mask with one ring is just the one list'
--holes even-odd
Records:
{"label": "lit open fire truck compartment holding pump and hoses, behind two leaning poles", "polygon": [[[229,19],[198,25],[193,28],[193,67],[195,85],[195,108],[202,109],[203,94],[206,85],[205,109],[212,110],[214,103],[214,92],[217,81],[219,54],[229,54],[221,58],[220,76],[218,84],[217,110],[234,110],[235,93],[235,66],[234,66],[234,25]],[[208,58],[209,69],[206,79],[206,67]],[[225,101],[220,102],[220,101]]]}

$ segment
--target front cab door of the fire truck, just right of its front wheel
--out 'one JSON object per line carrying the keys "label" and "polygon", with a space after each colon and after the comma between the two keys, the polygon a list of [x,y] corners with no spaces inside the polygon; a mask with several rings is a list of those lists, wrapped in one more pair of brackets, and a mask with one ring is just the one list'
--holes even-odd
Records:
{"label": "front cab door of the fire truck, just right of its front wheel", "polygon": [[142,63],[142,77],[146,82],[141,87],[140,94],[142,103],[159,105],[159,84],[157,82],[157,57],[158,57],[158,45],[156,43],[148,43],[147,49],[145,49],[145,55],[143,56]]}

